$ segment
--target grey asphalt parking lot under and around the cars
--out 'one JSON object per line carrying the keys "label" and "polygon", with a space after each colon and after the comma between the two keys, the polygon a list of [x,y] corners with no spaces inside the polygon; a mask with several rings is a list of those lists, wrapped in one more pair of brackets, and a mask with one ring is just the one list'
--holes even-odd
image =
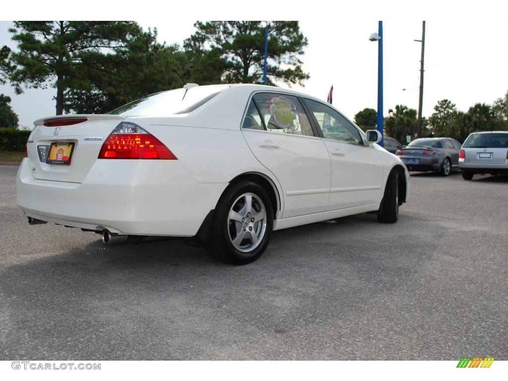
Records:
{"label": "grey asphalt parking lot under and around the cars", "polygon": [[28,226],[0,167],[2,360],[508,360],[508,177],[411,177],[395,225],[275,232],[257,262]]}

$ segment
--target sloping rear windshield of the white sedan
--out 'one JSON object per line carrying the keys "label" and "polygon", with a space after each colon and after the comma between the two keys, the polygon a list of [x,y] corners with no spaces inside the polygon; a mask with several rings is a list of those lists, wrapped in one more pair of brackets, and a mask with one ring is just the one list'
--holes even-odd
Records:
{"label": "sloping rear windshield of the white sedan", "polygon": [[158,92],[120,106],[108,114],[125,116],[168,116],[186,114],[204,105],[229,86],[203,86]]}

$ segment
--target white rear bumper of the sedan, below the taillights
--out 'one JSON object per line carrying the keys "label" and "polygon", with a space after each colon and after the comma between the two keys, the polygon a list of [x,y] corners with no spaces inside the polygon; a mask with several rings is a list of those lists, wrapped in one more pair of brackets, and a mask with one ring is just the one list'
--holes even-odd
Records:
{"label": "white rear bumper of the sedan, below the taillights", "polygon": [[97,160],[82,183],[35,179],[23,159],[16,203],[50,223],[112,233],[194,236],[227,183],[198,183],[177,160]]}

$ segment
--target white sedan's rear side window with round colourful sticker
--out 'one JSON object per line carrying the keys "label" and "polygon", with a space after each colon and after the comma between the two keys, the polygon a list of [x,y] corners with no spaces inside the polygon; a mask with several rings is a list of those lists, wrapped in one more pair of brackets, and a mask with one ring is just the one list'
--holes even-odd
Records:
{"label": "white sedan's rear side window with round colourful sticker", "polygon": [[255,94],[247,108],[242,128],[314,136],[300,101],[288,94]]}

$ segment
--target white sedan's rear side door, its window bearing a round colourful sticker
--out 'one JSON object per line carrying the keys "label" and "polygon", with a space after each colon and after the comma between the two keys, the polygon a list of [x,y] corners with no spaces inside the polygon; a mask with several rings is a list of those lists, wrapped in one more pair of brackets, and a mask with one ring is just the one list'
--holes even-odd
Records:
{"label": "white sedan's rear side door, its window bearing a round colourful sticker", "polygon": [[255,93],[242,124],[259,162],[278,179],[284,193],[282,216],[323,212],[330,193],[330,156],[294,96]]}

